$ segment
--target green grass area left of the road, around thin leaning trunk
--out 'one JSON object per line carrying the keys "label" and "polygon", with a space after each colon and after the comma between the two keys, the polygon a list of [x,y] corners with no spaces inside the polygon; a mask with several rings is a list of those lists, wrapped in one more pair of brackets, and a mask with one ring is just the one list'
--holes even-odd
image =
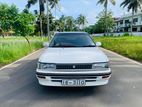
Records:
{"label": "green grass area left of the road, around thin leaning trunk", "polygon": [[0,66],[6,65],[43,47],[47,38],[28,37],[31,47],[23,37],[0,37]]}

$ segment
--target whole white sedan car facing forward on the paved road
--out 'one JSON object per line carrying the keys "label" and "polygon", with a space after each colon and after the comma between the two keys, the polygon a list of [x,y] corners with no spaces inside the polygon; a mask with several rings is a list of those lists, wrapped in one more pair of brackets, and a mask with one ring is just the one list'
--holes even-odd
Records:
{"label": "whole white sedan car facing forward on the paved road", "polygon": [[38,61],[39,84],[59,87],[106,85],[111,77],[107,56],[85,32],[56,33]]}

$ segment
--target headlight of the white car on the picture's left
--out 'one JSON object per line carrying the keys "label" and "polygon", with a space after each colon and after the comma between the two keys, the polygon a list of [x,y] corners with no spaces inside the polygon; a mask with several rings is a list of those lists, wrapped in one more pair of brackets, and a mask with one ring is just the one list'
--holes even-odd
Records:
{"label": "headlight of the white car on the picture's left", "polygon": [[48,63],[38,63],[38,69],[55,69],[55,64],[48,64]]}

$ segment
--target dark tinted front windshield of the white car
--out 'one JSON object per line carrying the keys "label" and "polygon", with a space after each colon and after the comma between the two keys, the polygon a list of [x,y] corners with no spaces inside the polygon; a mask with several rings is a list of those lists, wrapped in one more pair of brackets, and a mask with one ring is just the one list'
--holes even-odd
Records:
{"label": "dark tinted front windshield of the white car", "polygon": [[58,33],[49,47],[95,47],[95,44],[87,33]]}

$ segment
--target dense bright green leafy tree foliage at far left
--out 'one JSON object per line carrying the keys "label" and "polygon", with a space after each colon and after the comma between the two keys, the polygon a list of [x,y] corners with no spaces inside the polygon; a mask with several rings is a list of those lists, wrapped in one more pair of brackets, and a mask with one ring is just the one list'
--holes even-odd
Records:
{"label": "dense bright green leafy tree foliage at far left", "polygon": [[26,36],[34,32],[35,17],[31,13],[19,13],[15,5],[0,3],[0,25],[4,34],[14,32]]}

